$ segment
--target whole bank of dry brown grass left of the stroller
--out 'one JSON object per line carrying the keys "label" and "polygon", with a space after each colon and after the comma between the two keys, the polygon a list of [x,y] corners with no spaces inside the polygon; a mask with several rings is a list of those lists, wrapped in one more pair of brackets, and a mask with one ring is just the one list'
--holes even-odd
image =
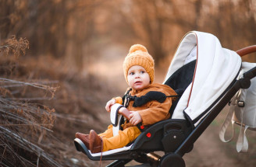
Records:
{"label": "whole bank of dry brown grass left of the stroller", "polygon": [[102,122],[108,90],[98,92],[105,83],[81,78],[52,57],[24,56],[26,39],[0,44],[0,166],[97,164],[76,151],[73,138],[106,127],[94,124]]}

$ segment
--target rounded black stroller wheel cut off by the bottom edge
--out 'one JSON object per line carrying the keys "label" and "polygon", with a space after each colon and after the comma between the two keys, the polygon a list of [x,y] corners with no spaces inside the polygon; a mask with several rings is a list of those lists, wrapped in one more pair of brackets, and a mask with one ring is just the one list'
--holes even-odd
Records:
{"label": "rounded black stroller wheel cut off by the bottom edge", "polygon": [[185,167],[185,162],[180,155],[169,153],[162,156],[160,167]]}

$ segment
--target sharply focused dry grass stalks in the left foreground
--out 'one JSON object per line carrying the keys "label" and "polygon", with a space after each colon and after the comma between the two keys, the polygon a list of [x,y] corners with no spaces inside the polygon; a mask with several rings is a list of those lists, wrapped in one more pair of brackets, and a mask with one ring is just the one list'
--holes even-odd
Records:
{"label": "sharply focused dry grass stalks in the left foreground", "polygon": [[[48,154],[47,144],[42,139],[52,135],[55,110],[48,106],[30,103],[37,99],[52,99],[57,87],[47,82],[23,82],[16,75],[16,64],[26,53],[29,43],[16,37],[2,44],[2,76],[0,78],[0,164],[1,166],[62,166]],[[31,91],[30,88],[33,88]],[[44,95],[44,96],[41,96]],[[48,96],[50,95],[50,96]],[[49,133],[51,132],[51,133]]]}

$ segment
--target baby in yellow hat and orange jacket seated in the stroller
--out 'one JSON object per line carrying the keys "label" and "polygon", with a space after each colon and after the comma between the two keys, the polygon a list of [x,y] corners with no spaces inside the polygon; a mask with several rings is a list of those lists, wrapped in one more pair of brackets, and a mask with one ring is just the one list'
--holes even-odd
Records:
{"label": "baby in yellow hat and orange jacket seated in the stroller", "polygon": [[[176,92],[168,85],[153,83],[154,66],[154,59],[148,54],[146,47],[140,44],[130,47],[129,54],[123,62],[124,76],[130,87],[123,98],[113,98],[105,106],[105,109],[110,112],[112,105],[122,104],[123,107],[119,109],[119,113],[128,111],[130,115],[116,136],[113,136],[112,124],[101,134],[97,134],[94,130],[91,130],[90,134],[76,133],[76,137],[83,141],[91,153],[123,148],[140,135],[141,128],[137,126],[138,124],[147,127],[160,120],[169,119],[172,98],[168,96],[176,96]],[[162,92],[163,98],[155,98],[155,92]],[[133,99],[130,100],[131,98],[128,97]],[[136,99],[140,99],[140,103]]]}

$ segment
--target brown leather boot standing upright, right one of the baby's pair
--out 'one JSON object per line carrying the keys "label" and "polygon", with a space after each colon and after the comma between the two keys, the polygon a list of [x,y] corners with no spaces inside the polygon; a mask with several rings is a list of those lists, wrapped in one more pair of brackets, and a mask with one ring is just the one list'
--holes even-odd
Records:
{"label": "brown leather boot standing upright, right one of the baby's pair", "polygon": [[103,141],[101,139],[101,137],[98,136],[98,134],[94,131],[91,130],[90,131],[90,150],[91,153],[98,153],[102,151],[102,147],[103,147]]}

